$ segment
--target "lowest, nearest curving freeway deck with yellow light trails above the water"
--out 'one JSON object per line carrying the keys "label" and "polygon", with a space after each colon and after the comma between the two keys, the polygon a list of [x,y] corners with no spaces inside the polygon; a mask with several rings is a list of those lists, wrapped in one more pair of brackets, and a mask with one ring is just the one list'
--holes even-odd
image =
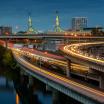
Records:
{"label": "lowest, nearest curving freeway deck with yellow light trails above the water", "polygon": [[20,53],[18,53],[16,50],[12,49],[15,59],[19,64],[27,68],[28,70],[32,71],[32,73],[37,73],[45,78],[48,78],[49,80],[52,80],[56,83],[59,83],[69,89],[72,89],[74,91],[77,91],[78,93],[85,95],[87,97],[90,97],[94,99],[95,101],[98,101],[100,103],[104,103],[104,92],[96,90],[94,88],[82,85],[78,82],[75,82],[69,78],[59,76],[56,73],[44,70],[42,68],[39,68],[37,66],[32,65],[25,59],[23,59],[20,56]]}

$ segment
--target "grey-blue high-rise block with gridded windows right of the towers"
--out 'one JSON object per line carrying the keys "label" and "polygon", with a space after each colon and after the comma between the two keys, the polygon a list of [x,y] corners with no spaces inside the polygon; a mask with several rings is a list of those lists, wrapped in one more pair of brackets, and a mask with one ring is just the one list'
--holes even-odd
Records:
{"label": "grey-blue high-rise block with gridded windows right of the towers", "polygon": [[87,28],[87,22],[87,17],[73,17],[72,30],[83,30],[83,28]]}

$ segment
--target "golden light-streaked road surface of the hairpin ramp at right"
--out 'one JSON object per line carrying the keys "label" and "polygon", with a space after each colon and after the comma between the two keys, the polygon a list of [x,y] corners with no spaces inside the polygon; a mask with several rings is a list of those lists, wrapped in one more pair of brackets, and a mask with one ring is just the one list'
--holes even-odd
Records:
{"label": "golden light-streaked road surface of the hairpin ramp at right", "polygon": [[96,44],[97,45],[98,44],[104,44],[104,42],[71,44],[71,45],[64,46],[62,51],[67,53],[67,54],[70,54],[74,57],[85,59],[87,61],[94,62],[95,64],[99,64],[99,65],[104,66],[104,60],[95,59],[93,57],[87,56],[87,55],[83,54],[83,52],[81,52],[81,51],[79,52],[79,50],[78,50],[78,48],[80,48],[82,46],[96,45]]}

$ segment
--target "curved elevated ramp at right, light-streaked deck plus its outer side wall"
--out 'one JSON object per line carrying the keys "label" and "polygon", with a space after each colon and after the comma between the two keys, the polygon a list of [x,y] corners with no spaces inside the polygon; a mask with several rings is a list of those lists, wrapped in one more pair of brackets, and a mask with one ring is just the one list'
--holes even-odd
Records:
{"label": "curved elevated ramp at right, light-streaked deck plus its outer side wall", "polygon": [[61,51],[63,51],[70,60],[74,60],[78,63],[81,63],[80,62],[81,60],[83,64],[88,65],[90,68],[104,72],[104,60],[88,56],[86,55],[86,53],[83,53],[80,50],[81,47],[85,47],[87,45],[100,45],[100,44],[104,44],[104,42],[71,44],[61,48]]}

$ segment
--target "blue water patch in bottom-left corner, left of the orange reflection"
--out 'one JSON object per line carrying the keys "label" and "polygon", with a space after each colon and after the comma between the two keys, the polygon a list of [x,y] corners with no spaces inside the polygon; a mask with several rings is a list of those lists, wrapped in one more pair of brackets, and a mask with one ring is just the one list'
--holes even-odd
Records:
{"label": "blue water patch in bottom-left corner, left of the orange reflection", "polygon": [[0,77],[0,104],[15,104],[12,83],[3,76]]}

